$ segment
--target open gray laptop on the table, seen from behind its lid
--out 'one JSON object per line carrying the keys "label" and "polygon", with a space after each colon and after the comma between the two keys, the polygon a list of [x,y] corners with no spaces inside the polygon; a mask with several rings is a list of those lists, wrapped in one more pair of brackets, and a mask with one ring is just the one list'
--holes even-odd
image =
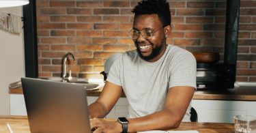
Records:
{"label": "open gray laptop on the table, seen from behind its lid", "polygon": [[31,132],[91,132],[83,85],[21,78]]}

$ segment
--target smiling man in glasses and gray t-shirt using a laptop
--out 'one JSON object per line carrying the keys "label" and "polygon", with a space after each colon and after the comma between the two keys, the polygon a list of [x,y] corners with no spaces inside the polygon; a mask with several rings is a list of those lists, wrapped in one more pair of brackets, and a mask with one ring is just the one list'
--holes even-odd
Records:
{"label": "smiling man in glasses and gray t-shirt using a laptop", "polygon": [[[171,32],[169,3],[143,0],[132,12],[129,33],[137,50],[113,63],[100,97],[89,106],[94,132],[165,130],[190,121],[196,61],[188,51],[166,42]],[[99,119],[109,113],[123,91],[129,102],[128,118]]]}

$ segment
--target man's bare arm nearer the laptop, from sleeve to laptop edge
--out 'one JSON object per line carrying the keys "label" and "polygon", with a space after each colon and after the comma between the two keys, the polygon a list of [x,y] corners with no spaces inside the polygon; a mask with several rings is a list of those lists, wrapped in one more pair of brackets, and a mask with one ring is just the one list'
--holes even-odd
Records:
{"label": "man's bare arm nearer the laptop, from sleeve to laptop edge", "polygon": [[121,95],[122,87],[106,81],[98,100],[88,107],[90,117],[105,117]]}

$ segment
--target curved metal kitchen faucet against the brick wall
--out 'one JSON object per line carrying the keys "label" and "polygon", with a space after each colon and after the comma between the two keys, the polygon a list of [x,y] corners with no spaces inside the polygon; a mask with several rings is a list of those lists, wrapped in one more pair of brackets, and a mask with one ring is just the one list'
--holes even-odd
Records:
{"label": "curved metal kitchen faucet against the brick wall", "polygon": [[63,71],[62,71],[62,82],[67,82],[68,80],[71,80],[72,79],[72,76],[71,76],[71,70],[70,70],[70,75],[68,77],[67,76],[67,59],[68,57],[72,57],[73,61],[74,60],[74,55],[72,53],[66,53],[66,55],[63,57]]}

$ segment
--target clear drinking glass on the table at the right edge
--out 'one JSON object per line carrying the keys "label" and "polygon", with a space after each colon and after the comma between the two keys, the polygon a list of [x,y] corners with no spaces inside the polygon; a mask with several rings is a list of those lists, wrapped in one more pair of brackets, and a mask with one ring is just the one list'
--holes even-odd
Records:
{"label": "clear drinking glass on the table at the right edge", "polygon": [[256,133],[256,117],[236,115],[233,117],[236,133]]}

